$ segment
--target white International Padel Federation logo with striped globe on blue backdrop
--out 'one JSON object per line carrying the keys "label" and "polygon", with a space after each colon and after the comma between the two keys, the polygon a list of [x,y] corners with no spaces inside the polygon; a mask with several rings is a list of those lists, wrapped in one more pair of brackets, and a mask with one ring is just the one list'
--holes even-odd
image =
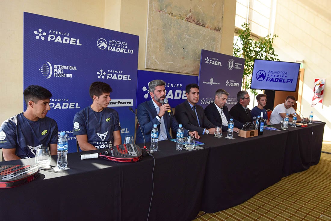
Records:
{"label": "white International Padel Federation logo with striped globe on blue backdrop", "polygon": [[49,79],[51,76],[57,78],[72,78],[72,73],[77,71],[77,67],[61,64],[52,65],[50,62],[46,61],[41,65],[39,71],[46,79]]}

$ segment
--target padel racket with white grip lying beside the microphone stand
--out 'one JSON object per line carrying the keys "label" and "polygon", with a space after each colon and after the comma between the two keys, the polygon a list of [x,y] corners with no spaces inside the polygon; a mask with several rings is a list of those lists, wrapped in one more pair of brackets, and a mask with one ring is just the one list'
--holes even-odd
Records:
{"label": "padel racket with white grip lying beside the microphone stand", "polygon": [[101,158],[117,162],[137,162],[142,158],[142,150],[135,144],[120,144],[101,153],[81,154],[80,159]]}

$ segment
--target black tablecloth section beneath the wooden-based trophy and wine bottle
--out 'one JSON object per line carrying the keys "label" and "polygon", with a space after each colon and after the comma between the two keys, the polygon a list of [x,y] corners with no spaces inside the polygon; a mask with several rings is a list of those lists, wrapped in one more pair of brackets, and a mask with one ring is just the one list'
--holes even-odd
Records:
{"label": "black tablecloth section beneath the wooden-based trophy and wine bottle", "polygon": [[[233,140],[212,135],[201,142],[210,147],[201,210],[213,213],[240,204],[282,178],[287,131]],[[223,134],[226,136],[226,133]]]}

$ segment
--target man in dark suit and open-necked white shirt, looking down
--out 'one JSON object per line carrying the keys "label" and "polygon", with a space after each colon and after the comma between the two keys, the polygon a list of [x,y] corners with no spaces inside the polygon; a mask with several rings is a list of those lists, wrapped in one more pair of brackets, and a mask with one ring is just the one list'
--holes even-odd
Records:
{"label": "man in dark suit and open-necked white shirt, looking down", "polygon": [[[216,126],[222,126],[223,131],[227,131],[228,122],[233,118],[228,108],[225,106],[229,93],[223,89],[218,89],[215,92],[215,101],[205,108],[207,118]],[[233,131],[239,133],[238,128],[243,127],[243,123],[233,118],[234,128]]]}

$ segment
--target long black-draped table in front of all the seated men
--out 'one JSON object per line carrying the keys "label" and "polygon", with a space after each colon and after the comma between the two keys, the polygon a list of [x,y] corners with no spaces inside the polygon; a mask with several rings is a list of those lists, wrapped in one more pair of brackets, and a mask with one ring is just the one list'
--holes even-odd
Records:
{"label": "long black-draped table in front of all the seated men", "polygon": [[[149,220],[192,220],[200,210],[216,212],[240,204],[282,177],[306,170],[320,158],[325,123],[307,128],[264,130],[252,138],[203,135],[202,150],[176,151],[159,142],[154,153],[154,193]],[[279,125],[274,125],[275,127]],[[149,147],[149,143],[147,144]],[[140,145],[142,146],[142,145]],[[70,170],[41,170],[36,180],[0,189],[4,220],[147,220],[153,158],[136,163],[68,155]],[[7,164],[34,165],[34,159]],[[51,165],[56,165],[52,156]]]}

